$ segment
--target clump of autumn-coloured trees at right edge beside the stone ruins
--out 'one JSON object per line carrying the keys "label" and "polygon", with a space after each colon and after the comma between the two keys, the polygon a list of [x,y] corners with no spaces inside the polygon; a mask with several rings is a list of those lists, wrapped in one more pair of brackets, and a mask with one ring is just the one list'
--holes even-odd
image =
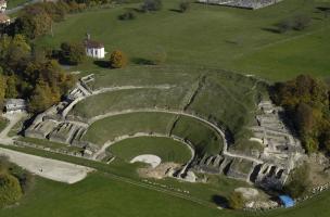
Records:
{"label": "clump of autumn-coloured trees at right edge beside the stone ruins", "polygon": [[285,108],[306,151],[330,152],[330,88],[308,75],[297,76],[272,88],[272,99]]}

